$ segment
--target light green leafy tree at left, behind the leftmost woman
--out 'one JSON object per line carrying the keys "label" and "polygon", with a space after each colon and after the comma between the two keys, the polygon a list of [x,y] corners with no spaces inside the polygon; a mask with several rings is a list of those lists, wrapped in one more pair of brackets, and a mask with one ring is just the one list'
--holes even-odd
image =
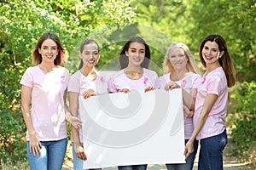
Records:
{"label": "light green leafy tree at left, behind the leftmost woman", "polygon": [[[127,1],[14,0],[0,3],[0,157],[15,164],[26,160],[26,126],[20,111],[20,78],[32,65],[30,55],[38,38],[55,32],[67,49],[67,68],[73,72],[79,57],[69,56],[90,32],[103,26],[131,23]],[[1,163],[1,162],[0,162]]]}

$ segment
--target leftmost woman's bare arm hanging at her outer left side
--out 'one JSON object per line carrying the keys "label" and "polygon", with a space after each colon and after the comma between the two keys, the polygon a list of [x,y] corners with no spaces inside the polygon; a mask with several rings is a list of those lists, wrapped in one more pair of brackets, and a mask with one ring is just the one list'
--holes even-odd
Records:
{"label": "leftmost woman's bare arm hanging at her outer left side", "polygon": [[[35,128],[32,124],[32,117],[30,113],[30,104],[32,100],[32,88],[28,88],[24,85],[21,87],[21,111],[26,123],[27,132],[29,134],[29,150],[34,156],[41,155],[41,143],[38,139]],[[39,104],[38,104],[39,105]]]}

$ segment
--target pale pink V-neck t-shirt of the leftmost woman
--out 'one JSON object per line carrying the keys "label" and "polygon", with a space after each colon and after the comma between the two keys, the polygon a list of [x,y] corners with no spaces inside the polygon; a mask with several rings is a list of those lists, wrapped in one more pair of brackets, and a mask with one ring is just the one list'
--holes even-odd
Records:
{"label": "pale pink V-neck t-shirt of the leftmost woman", "polygon": [[[32,88],[32,124],[40,141],[67,138],[63,95],[68,78],[69,71],[64,67],[44,74],[37,65],[26,69],[20,80],[20,84]],[[29,140],[27,132],[26,140]]]}

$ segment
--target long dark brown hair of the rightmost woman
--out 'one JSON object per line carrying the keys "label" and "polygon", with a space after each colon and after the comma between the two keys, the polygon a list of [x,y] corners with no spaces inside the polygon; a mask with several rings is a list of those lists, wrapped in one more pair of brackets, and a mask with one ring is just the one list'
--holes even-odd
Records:
{"label": "long dark brown hair of the rightmost woman", "polygon": [[205,68],[207,68],[206,61],[203,59],[202,56],[202,49],[205,46],[206,42],[216,42],[218,44],[218,50],[220,52],[224,51],[224,54],[221,58],[218,58],[219,64],[222,66],[225,75],[227,77],[228,87],[232,87],[235,85],[236,82],[236,71],[232,62],[232,59],[230,57],[230,54],[228,52],[227,44],[223,37],[219,36],[218,34],[212,34],[207,37],[201,42],[200,48],[199,48],[199,56],[201,59],[201,64],[204,65]]}

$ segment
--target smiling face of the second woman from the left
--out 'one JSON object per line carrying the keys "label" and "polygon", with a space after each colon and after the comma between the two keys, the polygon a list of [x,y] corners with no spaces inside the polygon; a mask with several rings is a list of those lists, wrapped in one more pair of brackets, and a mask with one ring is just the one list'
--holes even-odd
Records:
{"label": "smiling face of the second woman from the left", "polygon": [[95,66],[100,58],[98,46],[95,43],[84,45],[83,51],[79,52],[80,59],[83,59],[84,65]]}

